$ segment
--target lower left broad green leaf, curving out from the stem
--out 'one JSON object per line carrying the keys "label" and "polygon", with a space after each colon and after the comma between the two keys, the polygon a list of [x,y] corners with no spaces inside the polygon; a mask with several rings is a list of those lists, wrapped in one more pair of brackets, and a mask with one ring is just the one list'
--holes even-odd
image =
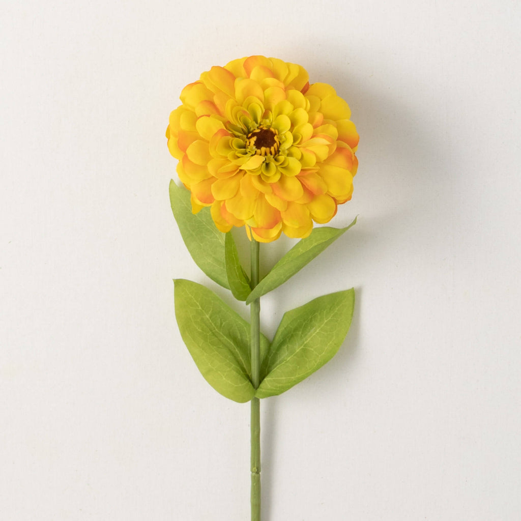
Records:
{"label": "lower left broad green leaf, curving out from the stem", "polygon": [[[226,398],[251,400],[250,325],[201,284],[184,279],[174,284],[179,331],[201,374]],[[261,335],[261,356],[268,344]]]}

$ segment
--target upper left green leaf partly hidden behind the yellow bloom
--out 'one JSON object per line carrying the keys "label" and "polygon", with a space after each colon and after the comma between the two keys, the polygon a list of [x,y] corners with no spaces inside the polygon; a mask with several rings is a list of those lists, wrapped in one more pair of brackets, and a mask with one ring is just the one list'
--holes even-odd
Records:
{"label": "upper left green leaf partly hidden behind the yellow bloom", "polygon": [[170,181],[173,216],[190,255],[205,274],[220,286],[230,289],[225,266],[225,234],[212,220],[209,208],[192,214],[190,191]]}

